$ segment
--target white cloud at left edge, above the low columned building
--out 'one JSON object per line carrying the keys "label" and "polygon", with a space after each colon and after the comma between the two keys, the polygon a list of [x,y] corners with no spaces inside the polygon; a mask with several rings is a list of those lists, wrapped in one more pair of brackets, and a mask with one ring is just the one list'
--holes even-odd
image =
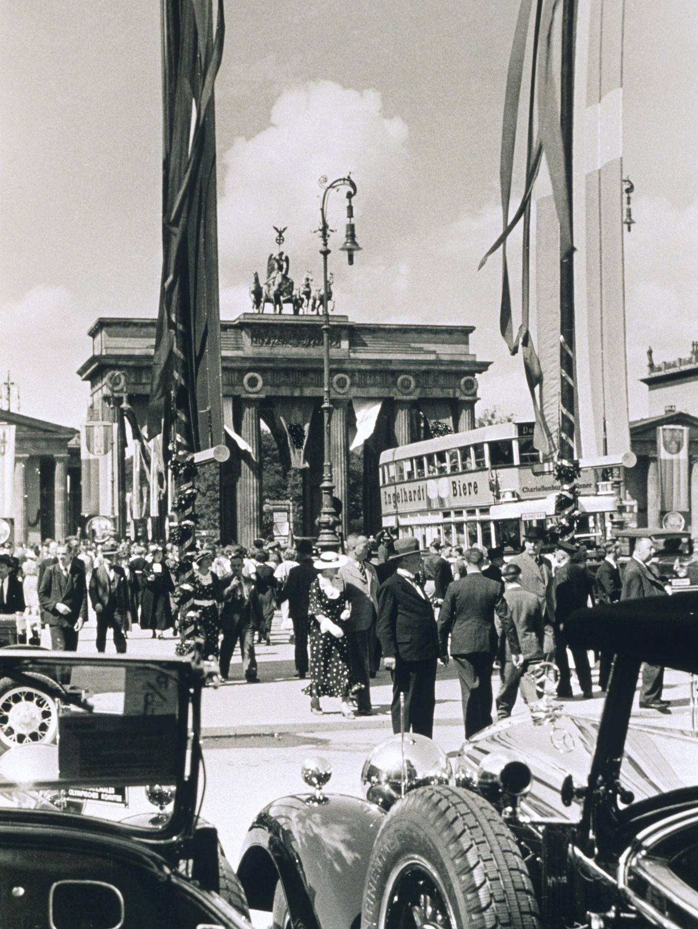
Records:
{"label": "white cloud at left edge, above the low columned building", "polygon": [[84,313],[64,287],[39,284],[0,307],[0,371],[19,384],[19,412],[61,425],[84,420],[88,391],[75,371],[84,361]]}

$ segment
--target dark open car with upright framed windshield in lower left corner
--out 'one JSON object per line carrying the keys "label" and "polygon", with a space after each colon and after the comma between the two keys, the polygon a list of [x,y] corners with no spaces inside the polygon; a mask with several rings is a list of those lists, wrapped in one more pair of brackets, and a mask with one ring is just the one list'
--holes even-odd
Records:
{"label": "dark open car with upright framed windshield in lower left corner", "polygon": [[3,929],[249,929],[199,817],[200,694],[216,671],[196,657],[0,650],[17,697],[0,744]]}

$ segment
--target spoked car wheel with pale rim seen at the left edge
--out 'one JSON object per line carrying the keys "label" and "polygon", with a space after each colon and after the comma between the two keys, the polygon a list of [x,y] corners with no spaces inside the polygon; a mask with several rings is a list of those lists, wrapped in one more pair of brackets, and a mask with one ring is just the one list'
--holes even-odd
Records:
{"label": "spoked car wheel with pale rim seen at the left edge", "polygon": [[58,707],[37,684],[0,681],[0,744],[7,749],[56,739]]}

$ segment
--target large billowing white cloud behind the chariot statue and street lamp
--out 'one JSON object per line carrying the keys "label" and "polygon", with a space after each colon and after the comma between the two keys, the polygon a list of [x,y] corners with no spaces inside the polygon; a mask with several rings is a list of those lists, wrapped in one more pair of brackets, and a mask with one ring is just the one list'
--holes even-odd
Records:
{"label": "large billowing white cloud behind the chariot statue and street lamp", "polygon": [[[284,91],[270,125],[252,138],[237,138],[221,160],[218,232],[224,281],[249,287],[254,270],[264,280],[267,255],[276,249],[273,226],[289,227],[284,249],[294,281],[302,281],[307,269],[317,281],[321,259],[312,231],[320,221],[317,180],[324,175],[331,181],[348,171],[358,188],[357,239],[380,264],[381,242],[396,234],[408,199],[407,135],[402,119],[384,115],[376,90],[320,81]],[[345,192],[330,196],[328,220],[337,229],[333,251],[343,241]]]}

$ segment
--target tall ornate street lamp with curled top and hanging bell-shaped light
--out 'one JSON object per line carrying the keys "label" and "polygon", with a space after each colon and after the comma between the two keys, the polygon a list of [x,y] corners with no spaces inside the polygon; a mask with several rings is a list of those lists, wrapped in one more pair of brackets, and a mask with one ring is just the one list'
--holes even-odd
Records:
{"label": "tall ornate street lamp with curled top and hanging bell-shaped light", "polygon": [[[332,461],[331,461],[331,444],[330,444],[330,422],[332,418],[332,404],[330,403],[330,286],[328,282],[328,256],[330,248],[328,242],[330,239],[330,229],[327,221],[327,201],[330,190],[336,190],[339,187],[348,187],[346,193],[346,235],[344,244],[340,246],[341,252],[346,252],[349,264],[354,264],[354,253],[361,251],[361,246],[356,242],[354,229],[354,207],[352,199],[356,193],[356,185],[352,178],[338,177],[328,184],[327,177],[320,177],[320,187],[324,188],[322,194],[322,203],[320,204],[320,228],[317,231],[322,240],[322,352],[323,352],[323,402],[322,416],[324,429],[324,461],[322,464],[322,506],[320,516],[317,519],[317,547],[322,551],[336,551],[340,546],[340,540],[337,535],[337,512],[333,503],[334,479],[332,478]],[[346,504],[346,501],[343,501]]]}

